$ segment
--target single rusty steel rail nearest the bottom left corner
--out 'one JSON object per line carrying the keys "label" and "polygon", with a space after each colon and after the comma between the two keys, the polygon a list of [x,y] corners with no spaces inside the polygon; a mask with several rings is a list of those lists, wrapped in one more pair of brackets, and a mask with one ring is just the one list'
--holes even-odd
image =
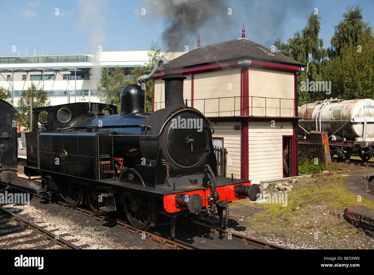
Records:
{"label": "single rusty steel rail nearest the bottom left corner", "polygon": [[26,219],[22,218],[21,216],[18,216],[17,214],[15,214],[15,213],[13,213],[9,210],[6,210],[3,207],[0,207],[0,211],[8,214],[13,220],[18,221],[21,224],[21,226],[26,226],[27,225],[28,229],[34,230],[35,233],[39,233],[45,239],[49,239],[50,241],[53,242],[53,244],[58,244],[61,247],[63,247],[64,249],[82,249],[82,248],[77,247],[76,245],[74,245],[71,242],[68,242],[64,239],[56,238],[57,235],[53,234],[52,232],[49,232],[48,230],[45,230],[44,228],[42,228],[40,226],[37,226],[36,224],[32,223],[31,221],[26,220]]}

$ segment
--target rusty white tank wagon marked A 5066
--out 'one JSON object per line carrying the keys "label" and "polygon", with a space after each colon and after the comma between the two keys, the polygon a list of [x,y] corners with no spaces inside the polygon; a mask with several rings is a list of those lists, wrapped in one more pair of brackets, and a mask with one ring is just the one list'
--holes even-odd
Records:
{"label": "rusty white tank wagon marked A 5066", "polygon": [[357,153],[368,161],[374,150],[374,100],[330,99],[304,104],[298,111],[300,132],[328,132],[331,155],[349,159]]}

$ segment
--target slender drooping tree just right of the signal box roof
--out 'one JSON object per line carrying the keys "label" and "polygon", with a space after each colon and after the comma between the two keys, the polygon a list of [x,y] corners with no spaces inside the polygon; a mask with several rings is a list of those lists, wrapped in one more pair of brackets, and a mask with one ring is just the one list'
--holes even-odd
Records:
{"label": "slender drooping tree just right of the signal box roof", "polygon": [[[307,79],[321,80],[321,66],[327,52],[323,48],[323,40],[318,38],[321,30],[320,20],[321,16],[312,12],[308,16],[306,26],[297,31],[293,38],[288,39],[287,43],[281,43],[279,38],[274,42],[280,54],[306,64],[304,72],[297,77],[298,83]],[[300,106],[321,96],[321,92],[301,91],[300,85],[297,85],[297,89]]]}

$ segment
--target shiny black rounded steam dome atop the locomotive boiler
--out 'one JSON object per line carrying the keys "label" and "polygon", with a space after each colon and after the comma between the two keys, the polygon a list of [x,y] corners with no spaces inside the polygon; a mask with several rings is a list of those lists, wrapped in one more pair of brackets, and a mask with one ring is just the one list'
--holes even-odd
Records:
{"label": "shiny black rounded steam dome atop the locomotive boiler", "polygon": [[144,113],[144,95],[140,85],[126,85],[121,91],[121,117],[131,113]]}

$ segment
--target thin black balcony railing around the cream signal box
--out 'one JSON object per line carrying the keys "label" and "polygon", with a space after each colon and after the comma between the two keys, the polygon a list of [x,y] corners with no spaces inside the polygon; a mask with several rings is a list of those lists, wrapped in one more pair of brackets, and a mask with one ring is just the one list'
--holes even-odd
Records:
{"label": "thin black balcony railing around the cream signal box", "polygon": [[[245,103],[245,104],[243,104]],[[154,110],[165,107],[165,102],[147,103],[154,105]],[[187,105],[192,106],[191,100]],[[242,106],[248,107],[242,107]],[[273,98],[254,96],[214,97],[194,99],[193,107],[205,116],[269,116],[293,117],[295,116],[294,98]]]}

